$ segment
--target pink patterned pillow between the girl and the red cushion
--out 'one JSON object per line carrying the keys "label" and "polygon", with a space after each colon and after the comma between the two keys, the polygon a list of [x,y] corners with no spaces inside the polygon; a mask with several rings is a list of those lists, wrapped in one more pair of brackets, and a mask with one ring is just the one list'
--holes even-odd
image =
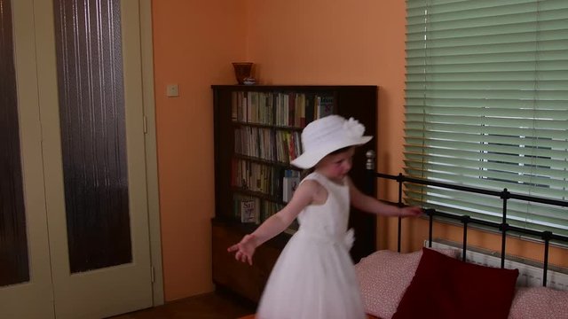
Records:
{"label": "pink patterned pillow between the girl and the red cushion", "polygon": [[[454,258],[459,253],[455,249],[438,251]],[[355,265],[367,314],[389,319],[397,311],[398,302],[412,281],[421,257],[422,250],[414,253],[382,250]]]}

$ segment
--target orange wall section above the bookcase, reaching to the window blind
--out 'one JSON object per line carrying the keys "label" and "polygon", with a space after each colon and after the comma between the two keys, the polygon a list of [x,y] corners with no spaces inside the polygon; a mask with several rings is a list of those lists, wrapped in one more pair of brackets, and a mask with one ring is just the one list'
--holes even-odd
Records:
{"label": "orange wall section above the bookcase, reaching to the window blind", "polygon": [[378,169],[402,162],[405,3],[248,0],[248,59],[279,84],[371,84],[379,89]]}

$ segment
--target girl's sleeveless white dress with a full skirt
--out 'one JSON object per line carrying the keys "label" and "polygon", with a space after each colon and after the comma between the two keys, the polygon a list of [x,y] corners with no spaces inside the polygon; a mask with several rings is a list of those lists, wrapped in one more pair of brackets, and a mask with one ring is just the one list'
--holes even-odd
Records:
{"label": "girl's sleeveless white dress with a full skirt", "polygon": [[268,279],[257,319],[359,319],[365,310],[349,250],[349,187],[319,173],[305,177],[327,190],[323,205],[304,208]]}

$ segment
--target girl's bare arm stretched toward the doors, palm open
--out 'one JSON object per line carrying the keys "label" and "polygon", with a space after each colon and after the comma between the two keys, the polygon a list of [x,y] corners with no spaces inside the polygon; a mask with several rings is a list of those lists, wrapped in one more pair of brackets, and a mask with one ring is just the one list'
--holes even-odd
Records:
{"label": "girl's bare arm stretched toward the doors, palm open", "polygon": [[287,206],[270,216],[252,234],[242,237],[241,242],[230,246],[227,251],[236,252],[234,258],[237,261],[248,262],[252,265],[252,256],[256,247],[286,230],[304,207],[312,203],[314,194],[317,194],[320,189],[319,183],[312,180],[304,181],[298,186]]}

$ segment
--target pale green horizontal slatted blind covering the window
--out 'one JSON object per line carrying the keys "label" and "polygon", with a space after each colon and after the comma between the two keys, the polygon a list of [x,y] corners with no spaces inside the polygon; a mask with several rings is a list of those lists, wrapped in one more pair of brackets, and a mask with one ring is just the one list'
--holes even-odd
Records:
{"label": "pale green horizontal slatted blind covering the window", "polygon": [[[568,1],[406,1],[406,175],[568,198]],[[408,185],[406,200],[501,222],[502,199]],[[508,222],[568,235],[564,207]]]}

